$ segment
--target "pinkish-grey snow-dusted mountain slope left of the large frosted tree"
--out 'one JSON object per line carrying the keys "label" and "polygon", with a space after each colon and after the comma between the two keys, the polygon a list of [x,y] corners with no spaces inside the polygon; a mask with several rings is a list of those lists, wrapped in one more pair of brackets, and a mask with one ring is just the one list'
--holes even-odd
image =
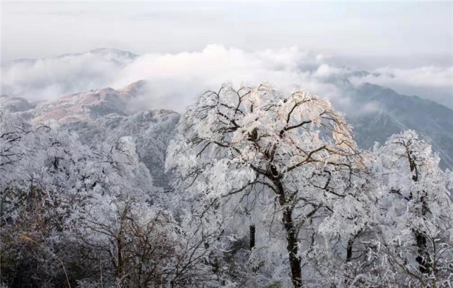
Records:
{"label": "pinkish-grey snow-dusted mountain slope left of the large frosted tree", "polygon": [[76,132],[81,142],[88,145],[114,144],[120,137],[133,137],[140,161],[151,171],[155,185],[163,187],[167,183],[163,173],[165,151],[180,115],[171,110],[142,110],[134,114],[129,103],[141,93],[142,85],[138,81],[119,90],[101,88],[73,93],[17,114],[32,124],[57,122],[60,129]]}

